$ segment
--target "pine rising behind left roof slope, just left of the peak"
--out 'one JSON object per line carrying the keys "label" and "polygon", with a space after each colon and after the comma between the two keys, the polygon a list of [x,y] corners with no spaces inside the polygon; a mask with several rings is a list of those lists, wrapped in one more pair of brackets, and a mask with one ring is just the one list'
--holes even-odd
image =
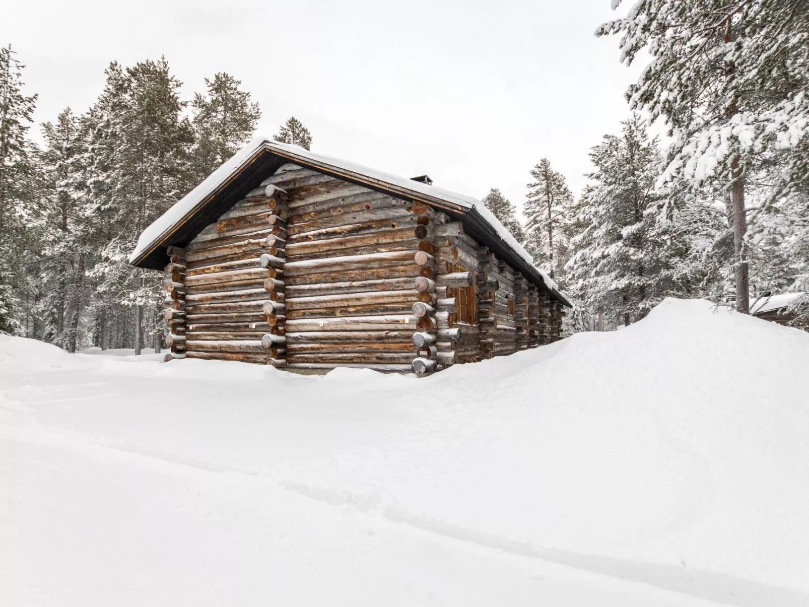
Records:
{"label": "pine rising behind left roof slope, just left of the peak", "polygon": [[219,72],[213,80],[205,79],[205,95],[194,96],[193,169],[197,180],[231,158],[256,130],[261,111],[257,103],[251,103],[250,93],[239,90],[240,84],[230,74]]}

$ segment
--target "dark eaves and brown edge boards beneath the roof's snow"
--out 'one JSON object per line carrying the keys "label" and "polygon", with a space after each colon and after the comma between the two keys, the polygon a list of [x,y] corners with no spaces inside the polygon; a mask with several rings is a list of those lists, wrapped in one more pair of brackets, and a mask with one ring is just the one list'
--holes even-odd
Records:
{"label": "dark eaves and brown edge boards beneath the roof's snow", "polygon": [[374,177],[366,176],[358,172],[347,171],[327,163],[313,161],[303,155],[297,155],[294,151],[270,151],[265,146],[260,146],[256,152],[248,159],[244,165],[234,172],[227,180],[222,182],[214,192],[205,197],[197,206],[190,210],[183,219],[176,224],[175,229],[160,236],[153,244],[147,248],[138,259],[133,261],[133,265],[150,270],[162,270],[168,263],[166,248],[170,245],[184,247],[199,234],[205,226],[213,223],[223,213],[227,212],[236,202],[243,198],[250,190],[260,185],[261,181],[277,171],[282,164],[294,162],[302,167],[311,168],[317,172],[329,175],[337,179],[362,185],[368,189],[380,193],[390,194],[409,202],[425,202],[430,206],[445,210],[456,219],[464,222],[470,232],[470,236],[492,249],[493,253],[506,261],[515,270],[523,274],[530,282],[540,287],[542,291],[547,291],[553,299],[561,302],[565,306],[572,308],[570,300],[545,284],[542,274],[533,265],[527,264],[522,257],[515,253],[502,240],[498,231],[495,230],[474,207],[466,208],[447,202],[439,197],[433,197],[425,193],[415,192],[393,185],[387,181],[377,180]]}

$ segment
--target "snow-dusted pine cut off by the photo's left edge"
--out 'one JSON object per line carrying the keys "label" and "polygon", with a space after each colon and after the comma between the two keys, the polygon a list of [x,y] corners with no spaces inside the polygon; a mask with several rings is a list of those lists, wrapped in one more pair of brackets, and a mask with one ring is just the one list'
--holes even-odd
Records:
{"label": "snow-dusted pine cut off by the photo's left edge", "polygon": [[28,129],[36,95],[23,95],[23,65],[11,45],[0,49],[0,333],[22,334],[28,219],[36,202],[36,171]]}

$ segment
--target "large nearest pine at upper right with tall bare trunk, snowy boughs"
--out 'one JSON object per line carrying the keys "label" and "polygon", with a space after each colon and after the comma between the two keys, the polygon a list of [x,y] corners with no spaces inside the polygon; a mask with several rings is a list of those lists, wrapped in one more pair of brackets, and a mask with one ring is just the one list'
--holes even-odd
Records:
{"label": "large nearest pine at upper right with tall bare trunk, snowy boughs", "polygon": [[664,177],[719,180],[730,192],[736,308],[748,312],[745,195],[767,152],[796,146],[809,131],[809,2],[638,0],[596,30],[612,33],[621,34],[622,62],[643,49],[653,57],[626,96],[667,123],[675,154]]}

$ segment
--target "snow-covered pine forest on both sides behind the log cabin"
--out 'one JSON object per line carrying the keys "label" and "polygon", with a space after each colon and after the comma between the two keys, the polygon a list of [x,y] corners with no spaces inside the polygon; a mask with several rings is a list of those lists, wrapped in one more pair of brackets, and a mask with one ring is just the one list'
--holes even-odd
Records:
{"label": "snow-covered pine forest on both sides behind the log cabin", "polygon": [[[574,300],[566,332],[629,325],[669,296],[749,312],[809,291],[807,3],[641,0],[596,35],[617,36],[621,62],[651,59],[621,129],[582,150],[587,187],[543,158],[524,201],[483,198]],[[163,277],[127,257],[252,138],[259,105],[230,74],[184,99],[165,58],[112,62],[90,108],[37,126],[23,64],[0,51],[0,331],[159,350]],[[276,138],[312,143],[294,117]],[[809,325],[809,297],[790,305]]]}

